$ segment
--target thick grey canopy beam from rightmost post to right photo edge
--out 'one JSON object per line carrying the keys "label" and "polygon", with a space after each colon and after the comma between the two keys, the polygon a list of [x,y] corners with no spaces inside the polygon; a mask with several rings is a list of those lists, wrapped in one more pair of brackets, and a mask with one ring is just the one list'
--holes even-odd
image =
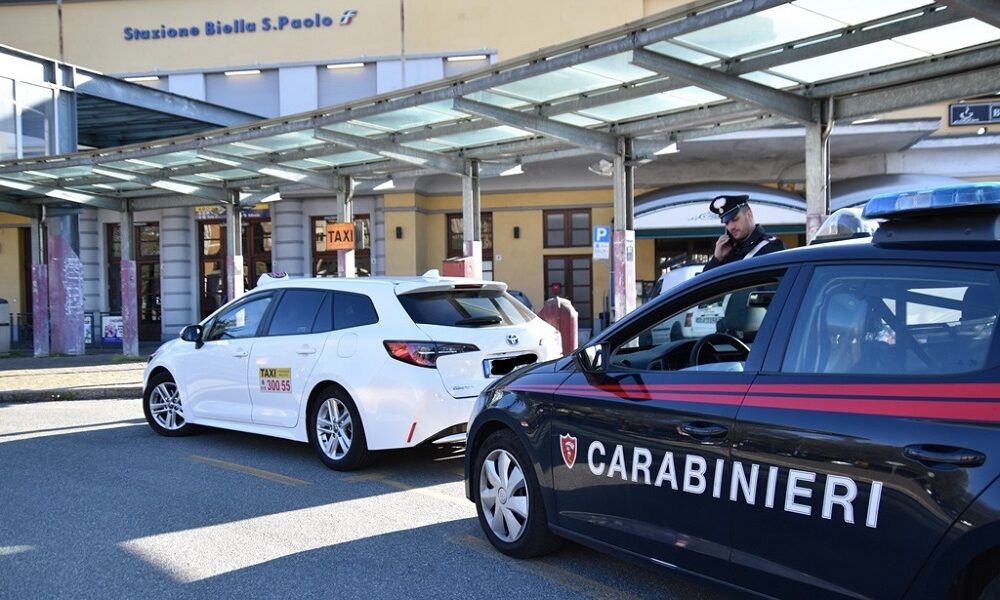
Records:
{"label": "thick grey canopy beam from rightmost post to right photo edge", "polygon": [[929,81],[898,85],[875,92],[860,93],[837,100],[834,105],[834,115],[837,119],[850,119],[955,98],[993,94],[996,92],[998,80],[1000,80],[1000,66],[995,66]]}

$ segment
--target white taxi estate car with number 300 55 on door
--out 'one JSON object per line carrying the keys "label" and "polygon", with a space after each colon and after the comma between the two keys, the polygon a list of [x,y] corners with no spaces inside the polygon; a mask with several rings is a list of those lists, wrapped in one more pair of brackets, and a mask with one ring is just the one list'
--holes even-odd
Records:
{"label": "white taxi estate car with number 300 55 on door", "polygon": [[463,439],[491,379],[561,355],[559,333],[504,283],[261,279],[150,357],[154,431],[309,442],[330,468],[357,469],[375,450]]}

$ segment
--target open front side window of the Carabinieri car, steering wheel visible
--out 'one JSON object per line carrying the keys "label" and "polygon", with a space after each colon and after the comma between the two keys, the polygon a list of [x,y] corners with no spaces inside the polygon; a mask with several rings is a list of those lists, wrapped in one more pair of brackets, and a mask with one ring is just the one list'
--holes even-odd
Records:
{"label": "open front side window of the Carabinieri car, steering wheel visible", "polygon": [[742,372],[778,281],[703,298],[613,349],[611,368]]}

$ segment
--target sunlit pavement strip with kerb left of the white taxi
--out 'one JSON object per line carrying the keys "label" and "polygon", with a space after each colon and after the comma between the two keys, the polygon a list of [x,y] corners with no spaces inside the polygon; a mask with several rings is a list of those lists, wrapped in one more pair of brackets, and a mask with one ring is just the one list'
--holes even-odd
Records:
{"label": "sunlit pavement strip with kerb left of the white taxi", "polygon": [[0,356],[0,403],[142,397],[146,357],[160,342],[142,343],[139,357],[93,351],[81,356]]}

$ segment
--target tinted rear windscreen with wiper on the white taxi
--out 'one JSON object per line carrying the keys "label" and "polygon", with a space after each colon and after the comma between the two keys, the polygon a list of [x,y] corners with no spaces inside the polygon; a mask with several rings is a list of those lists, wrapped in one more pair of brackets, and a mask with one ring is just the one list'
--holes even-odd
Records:
{"label": "tinted rear windscreen with wiper on the white taxi", "polygon": [[414,323],[491,327],[526,323],[535,314],[499,290],[446,290],[399,296]]}

